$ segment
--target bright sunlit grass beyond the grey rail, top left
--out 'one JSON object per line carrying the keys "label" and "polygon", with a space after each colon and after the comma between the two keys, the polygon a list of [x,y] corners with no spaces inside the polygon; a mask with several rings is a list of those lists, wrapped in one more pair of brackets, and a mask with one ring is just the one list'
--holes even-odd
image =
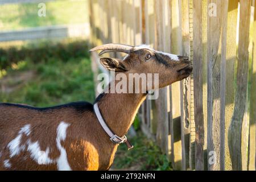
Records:
{"label": "bright sunlit grass beyond the grey rail, top left", "polygon": [[46,2],[46,16],[38,16],[38,3],[0,6],[0,30],[88,22],[87,1]]}

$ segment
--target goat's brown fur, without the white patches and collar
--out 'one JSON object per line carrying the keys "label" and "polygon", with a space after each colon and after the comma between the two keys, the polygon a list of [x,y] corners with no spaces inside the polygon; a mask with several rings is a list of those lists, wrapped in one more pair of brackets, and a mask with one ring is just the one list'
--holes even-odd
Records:
{"label": "goat's brown fur, without the white patches and collar", "polygon": [[[172,61],[168,57],[162,56],[162,59],[168,61],[169,64],[165,65],[159,63],[155,56],[152,56],[152,60],[145,61],[144,57],[147,53],[154,55],[155,52],[141,49],[131,53],[125,60],[119,62],[122,65],[118,68],[118,71],[123,69],[125,74],[159,73],[160,88],[182,80],[192,71],[191,68],[182,74],[177,72],[177,70],[191,64],[188,61],[183,61],[182,57],[180,57],[181,61]],[[104,59],[101,61],[105,63]],[[110,66],[113,69],[113,65]],[[118,67],[118,64],[115,67]],[[123,136],[129,130],[135,114],[145,98],[146,94],[144,93],[105,94],[98,101],[98,106],[110,129],[115,134]],[[67,152],[68,163],[72,170],[109,169],[113,163],[118,144],[109,140],[109,136],[102,129],[92,110],[92,105],[85,105],[84,110],[82,109],[83,106],[80,109],[65,106],[40,110],[0,104],[0,170],[58,169],[56,163],[39,165],[33,160],[30,152],[27,151],[26,141],[38,141],[42,151],[46,151],[49,147],[49,158],[59,158],[60,151],[57,148],[56,137],[60,122],[69,123],[67,137],[61,142],[61,146]],[[20,129],[27,124],[31,125],[31,133],[28,136],[23,134],[20,142],[20,145],[24,144],[25,149],[11,158],[7,145],[17,137]],[[9,160],[10,168],[3,164],[5,160]]]}

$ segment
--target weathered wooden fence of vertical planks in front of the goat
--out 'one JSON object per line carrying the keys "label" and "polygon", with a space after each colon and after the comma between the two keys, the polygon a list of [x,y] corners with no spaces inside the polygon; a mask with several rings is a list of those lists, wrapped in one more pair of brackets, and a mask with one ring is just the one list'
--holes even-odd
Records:
{"label": "weathered wooden fence of vertical planks in front of the goat", "polygon": [[[254,7],[255,0],[89,1],[92,46],[150,44],[193,62],[191,77],[160,89],[140,111],[143,132],[174,169],[255,170]],[[97,72],[97,53],[92,59]]]}

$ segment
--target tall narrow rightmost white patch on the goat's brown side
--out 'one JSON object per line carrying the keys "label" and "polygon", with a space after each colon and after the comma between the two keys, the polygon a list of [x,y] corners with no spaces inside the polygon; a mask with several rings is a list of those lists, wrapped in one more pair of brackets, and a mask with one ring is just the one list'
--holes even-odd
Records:
{"label": "tall narrow rightmost white patch on the goat's brown side", "polygon": [[60,125],[57,127],[57,147],[60,150],[60,157],[57,159],[57,167],[59,171],[71,171],[71,167],[68,164],[67,152],[65,148],[61,146],[61,141],[65,140],[67,135],[66,131],[70,124],[61,122]]}

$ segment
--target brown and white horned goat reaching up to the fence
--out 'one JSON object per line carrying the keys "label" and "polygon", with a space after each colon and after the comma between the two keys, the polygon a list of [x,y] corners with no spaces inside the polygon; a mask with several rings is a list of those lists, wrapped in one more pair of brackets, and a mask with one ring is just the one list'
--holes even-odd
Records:
{"label": "brown and white horned goat reaching up to the fence", "polygon": [[[101,58],[106,69],[129,73],[159,73],[159,88],[188,77],[187,57],[146,46],[105,44],[91,49],[125,52],[123,60]],[[114,80],[118,82],[118,80]],[[96,102],[110,129],[127,133],[146,93],[103,93]],[[0,104],[0,170],[106,170],[118,144],[110,141],[88,102],[37,108]]]}

